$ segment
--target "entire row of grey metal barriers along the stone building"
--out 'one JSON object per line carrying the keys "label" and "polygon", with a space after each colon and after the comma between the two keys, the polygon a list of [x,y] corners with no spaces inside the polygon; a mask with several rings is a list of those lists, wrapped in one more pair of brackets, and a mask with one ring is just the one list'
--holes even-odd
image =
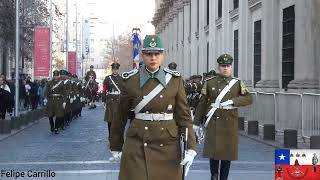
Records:
{"label": "entire row of grey metal barriers along the stone building", "polygon": [[245,121],[275,124],[276,131],[298,130],[298,136],[320,135],[320,94],[251,92],[251,106],[241,107],[240,116]]}

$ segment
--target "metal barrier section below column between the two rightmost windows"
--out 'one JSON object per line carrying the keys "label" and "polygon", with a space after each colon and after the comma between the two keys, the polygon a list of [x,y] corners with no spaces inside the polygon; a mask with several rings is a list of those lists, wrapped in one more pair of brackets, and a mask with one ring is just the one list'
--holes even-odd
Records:
{"label": "metal barrier section below column between the two rightmost windows", "polygon": [[257,92],[257,106],[255,110],[256,120],[259,125],[275,124],[276,97],[275,93]]}

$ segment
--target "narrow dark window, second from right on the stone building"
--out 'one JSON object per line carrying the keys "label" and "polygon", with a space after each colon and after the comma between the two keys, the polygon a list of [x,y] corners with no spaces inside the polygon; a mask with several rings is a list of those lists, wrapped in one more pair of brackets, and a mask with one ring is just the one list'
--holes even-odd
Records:
{"label": "narrow dark window, second from right on the stone building", "polygon": [[261,80],[261,20],[254,22],[253,84]]}

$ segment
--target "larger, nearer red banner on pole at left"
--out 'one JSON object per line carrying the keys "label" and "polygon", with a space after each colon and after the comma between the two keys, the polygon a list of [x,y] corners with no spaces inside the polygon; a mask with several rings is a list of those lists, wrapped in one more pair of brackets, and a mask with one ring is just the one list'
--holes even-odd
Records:
{"label": "larger, nearer red banner on pole at left", "polygon": [[34,29],[34,76],[49,77],[50,71],[50,28]]}

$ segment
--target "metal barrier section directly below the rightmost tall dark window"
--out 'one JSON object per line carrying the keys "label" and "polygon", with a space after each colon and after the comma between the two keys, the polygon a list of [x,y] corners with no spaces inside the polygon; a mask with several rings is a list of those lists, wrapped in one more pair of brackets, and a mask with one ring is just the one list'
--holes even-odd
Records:
{"label": "metal barrier section directly below the rightmost tall dark window", "polygon": [[276,93],[276,131],[296,129],[301,135],[302,129],[302,94]]}

